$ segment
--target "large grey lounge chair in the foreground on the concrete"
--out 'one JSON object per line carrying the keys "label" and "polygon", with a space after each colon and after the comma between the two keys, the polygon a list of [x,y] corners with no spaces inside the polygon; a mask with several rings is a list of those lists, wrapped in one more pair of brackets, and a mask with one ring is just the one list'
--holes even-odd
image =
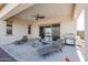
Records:
{"label": "large grey lounge chair in the foreground on the concrete", "polygon": [[52,42],[51,45],[45,45],[38,48],[38,54],[45,56],[51,52],[59,52],[59,51],[62,52],[61,47],[62,47],[62,41],[58,40],[56,42]]}

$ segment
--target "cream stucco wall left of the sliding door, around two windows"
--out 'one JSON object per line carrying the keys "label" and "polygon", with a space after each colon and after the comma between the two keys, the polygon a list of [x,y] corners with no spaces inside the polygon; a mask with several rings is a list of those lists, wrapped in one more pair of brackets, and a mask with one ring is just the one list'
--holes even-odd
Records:
{"label": "cream stucco wall left of the sliding door, around two windows", "polygon": [[0,21],[0,44],[7,44],[13,42],[16,40],[20,40],[23,35],[28,35],[29,39],[38,37],[39,36],[39,28],[38,25],[31,25],[31,34],[28,34],[28,22],[18,22],[13,21],[13,34],[7,35],[6,34],[6,21]]}

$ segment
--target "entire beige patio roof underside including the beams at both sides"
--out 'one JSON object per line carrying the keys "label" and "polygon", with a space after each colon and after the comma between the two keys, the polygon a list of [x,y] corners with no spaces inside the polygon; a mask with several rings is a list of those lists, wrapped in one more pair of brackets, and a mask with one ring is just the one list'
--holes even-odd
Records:
{"label": "entire beige patio roof underside including the beams at both sides", "polygon": [[[3,8],[4,7],[4,8]],[[46,21],[50,19],[59,20],[75,20],[82,10],[82,4],[75,3],[0,3],[0,19],[7,20],[16,17],[20,20],[36,22],[35,15],[39,13],[45,19],[38,21]]]}

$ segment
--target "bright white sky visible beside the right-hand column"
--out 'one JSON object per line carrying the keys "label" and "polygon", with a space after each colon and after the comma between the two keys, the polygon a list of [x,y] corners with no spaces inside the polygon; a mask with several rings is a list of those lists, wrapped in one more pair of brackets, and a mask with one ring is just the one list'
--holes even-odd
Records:
{"label": "bright white sky visible beside the right-hand column", "polygon": [[85,11],[80,13],[80,17],[77,20],[77,30],[82,31],[85,30]]}

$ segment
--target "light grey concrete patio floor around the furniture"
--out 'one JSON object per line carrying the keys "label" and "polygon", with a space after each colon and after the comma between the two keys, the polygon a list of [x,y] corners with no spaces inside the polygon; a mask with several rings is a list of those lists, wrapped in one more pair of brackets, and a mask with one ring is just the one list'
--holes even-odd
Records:
{"label": "light grey concrete patio floor around the furniture", "polygon": [[10,43],[1,45],[0,47],[18,62],[65,62],[66,56],[70,57],[71,62],[80,62],[76,46],[65,45],[62,53],[53,52],[43,58],[37,53],[37,47],[30,45],[31,43],[32,42],[28,42],[21,45]]}

